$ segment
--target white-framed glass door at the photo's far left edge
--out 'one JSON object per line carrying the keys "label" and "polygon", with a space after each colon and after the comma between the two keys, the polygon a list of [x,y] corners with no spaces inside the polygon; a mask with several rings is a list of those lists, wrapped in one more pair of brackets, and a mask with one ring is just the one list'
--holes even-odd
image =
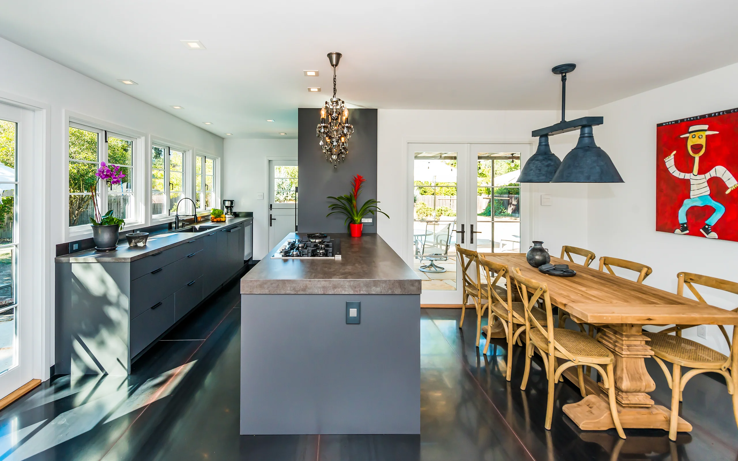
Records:
{"label": "white-framed glass door at the photo's far left edge", "polygon": [[[32,378],[31,111],[0,104],[0,397]],[[22,229],[22,230],[21,230]]]}

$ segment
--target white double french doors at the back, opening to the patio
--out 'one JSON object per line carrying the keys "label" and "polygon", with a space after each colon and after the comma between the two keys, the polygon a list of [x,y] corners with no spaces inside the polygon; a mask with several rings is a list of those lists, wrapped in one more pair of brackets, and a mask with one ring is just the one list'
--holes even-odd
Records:
{"label": "white double french doors at the back, opening to the patio", "polygon": [[521,154],[528,143],[410,143],[413,159],[413,270],[422,304],[459,305],[462,274],[455,246],[520,252],[524,211]]}

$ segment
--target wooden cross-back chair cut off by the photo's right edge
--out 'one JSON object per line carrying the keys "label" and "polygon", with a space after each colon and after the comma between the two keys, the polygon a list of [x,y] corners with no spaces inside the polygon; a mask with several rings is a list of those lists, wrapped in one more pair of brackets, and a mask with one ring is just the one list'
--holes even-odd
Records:
{"label": "wooden cross-back chair cut off by the photo's right edge", "polygon": [[[677,294],[683,296],[684,285],[686,285],[698,301],[707,304],[693,284],[738,294],[738,283],[731,282],[730,280],[691,274],[689,272],[680,272],[677,274]],[[733,309],[733,312],[737,311],[738,308]],[[669,387],[672,388],[672,416],[669,424],[669,439],[671,440],[677,440],[679,402],[682,400],[684,386],[694,375],[704,372],[716,372],[725,377],[728,394],[732,396],[733,400],[733,414],[736,424],[738,424],[738,326],[733,328],[733,339],[731,341],[728,338],[728,332],[725,331],[725,327],[718,325],[720,332],[725,337],[725,342],[728,343],[730,356],[725,356],[723,353],[717,352],[717,350],[694,342],[691,339],[681,337],[682,330],[695,326],[697,325],[675,325],[658,333],[644,331],[644,335],[651,339],[649,346],[651,346],[651,349],[655,353],[654,358],[661,366],[663,374],[666,375],[666,381],[669,383]],[[671,335],[669,333],[675,334]],[[669,372],[663,361],[668,361],[672,364],[672,372]],[[692,370],[682,375],[681,367],[689,367]]]}

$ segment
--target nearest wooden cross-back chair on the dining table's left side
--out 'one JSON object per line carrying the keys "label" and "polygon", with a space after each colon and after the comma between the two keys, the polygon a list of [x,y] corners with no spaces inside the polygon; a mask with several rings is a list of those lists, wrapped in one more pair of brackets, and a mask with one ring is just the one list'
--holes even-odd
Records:
{"label": "nearest wooden cross-back chair on the dining table's left side", "polygon": [[[615,429],[621,438],[625,438],[623,427],[618,417],[618,406],[615,403],[615,379],[613,378],[613,364],[615,358],[596,339],[590,338],[581,331],[567,330],[565,328],[554,328],[554,313],[551,310],[551,297],[548,294],[548,285],[523,277],[520,269],[515,268],[510,272],[514,283],[522,285],[523,302],[525,303],[525,372],[523,372],[523,384],[520,389],[525,390],[528,384],[528,375],[531,372],[531,358],[534,350],[538,350],[545,364],[548,377],[548,404],[546,406],[545,428],[551,429],[551,420],[554,416],[554,386],[556,381],[569,367],[576,367],[579,375],[579,389],[582,397],[586,395],[584,387],[584,372],[582,367],[587,365],[593,367],[602,376],[602,384],[607,389],[607,397],[610,402],[610,413],[615,423]],[[528,291],[532,294],[528,296]],[[536,319],[532,313],[539,299],[543,299],[546,313],[546,326]],[[562,358],[565,362],[558,365],[557,359]],[[604,367],[604,368],[603,368]]]}

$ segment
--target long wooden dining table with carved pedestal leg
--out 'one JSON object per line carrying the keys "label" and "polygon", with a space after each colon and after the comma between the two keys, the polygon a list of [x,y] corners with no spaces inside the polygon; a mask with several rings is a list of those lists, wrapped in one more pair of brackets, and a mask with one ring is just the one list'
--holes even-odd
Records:
{"label": "long wooden dining table with carved pedestal leg", "polygon": [[[738,313],[558,257],[551,257],[551,263],[568,264],[576,276],[543,274],[528,264],[524,253],[480,253],[480,257],[505,264],[510,270],[520,268],[524,277],[548,285],[552,305],[569,313],[576,322],[599,327],[597,340],[615,356],[615,397],[624,428],[669,430],[669,409],[656,405],[648,394],[656,384],[646,370],[645,359],[653,355],[653,350],[642,333],[644,325],[738,325]],[[564,375],[579,386],[576,367]],[[579,429],[615,427],[607,391],[588,376],[584,387],[587,397],[563,406],[565,414]],[[677,430],[691,431],[692,425],[680,417]]]}

